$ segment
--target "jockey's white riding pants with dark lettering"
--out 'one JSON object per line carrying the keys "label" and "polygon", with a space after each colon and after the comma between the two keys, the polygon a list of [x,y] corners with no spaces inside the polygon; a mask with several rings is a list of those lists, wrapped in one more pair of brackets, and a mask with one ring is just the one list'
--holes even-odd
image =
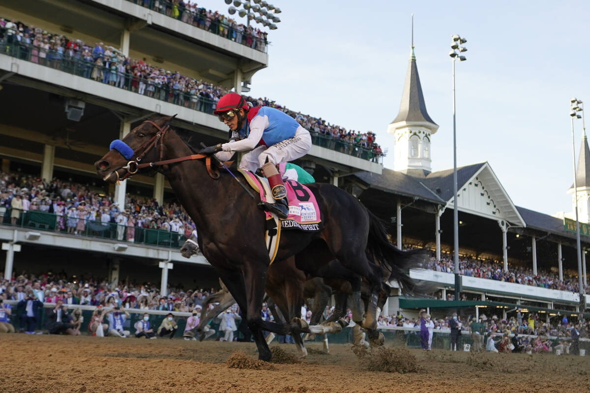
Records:
{"label": "jockey's white riding pants with dark lettering", "polygon": [[255,147],[244,154],[240,161],[240,169],[255,172],[266,163],[267,159],[275,165],[297,160],[309,153],[310,148],[312,148],[312,136],[309,131],[299,126],[295,136],[273,146]]}

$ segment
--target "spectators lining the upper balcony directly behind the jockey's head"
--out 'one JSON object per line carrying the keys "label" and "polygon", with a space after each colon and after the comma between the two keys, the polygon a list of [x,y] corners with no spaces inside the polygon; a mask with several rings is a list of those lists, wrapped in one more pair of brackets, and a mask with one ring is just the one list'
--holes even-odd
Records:
{"label": "spectators lining the upper balcony directly behind the jockey's head", "polygon": [[[0,34],[6,43],[5,50],[12,55],[205,113],[212,113],[219,98],[229,91],[152,65],[145,58],[129,58],[120,49],[103,42],[91,46],[80,39],[50,34],[32,25],[4,19],[0,19]],[[383,156],[372,131],[346,130],[321,117],[290,110],[267,97],[246,99],[253,105],[270,106],[289,114],[312,132],[314,144],[375,162]]]}

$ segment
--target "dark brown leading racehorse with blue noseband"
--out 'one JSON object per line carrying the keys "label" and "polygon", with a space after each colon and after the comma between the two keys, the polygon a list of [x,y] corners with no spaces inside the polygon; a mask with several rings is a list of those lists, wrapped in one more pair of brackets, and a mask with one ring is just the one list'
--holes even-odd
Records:
{"label": "dark brown leading racehorse with blue noseband", "polygon": [[[245,313],[248,328],[258,348],[258,358],[268,361],[270,349],[263,330],[286,334],[287,324],[263,321],[260,316],[264,283],[270,258],[264,241],[265,216],[250,200],[241,184],[229,174],[222,176],[211,166],[211,157],[194,154],[172,131],[172,117],[146,120],[111,148],[95,167],[104,181],[116,183],[138,171],[158,170],[195,222],[199,248],[227,285]],[[414,282],[405,269],[424,260],[419,250],[404,252],[388,242],[385,229],[373,214],[346,191],[332,184],[312,183],[307,187],[322,212],[323,227],[317,232],[284,230],[274,263],[290,256],[296,266],[313,276],[348,279],[353,284],[353,314],[362,321],[360,277],[367,280],[371,299],[364,326],[376,329],[376,308],[382,288],[383,268],[389,279],[411,290]],[[337,259],[342,272],[333,272]],[[379,261],[379,262],[376,262]],[[340,276],[338,276],[340,275]]]}

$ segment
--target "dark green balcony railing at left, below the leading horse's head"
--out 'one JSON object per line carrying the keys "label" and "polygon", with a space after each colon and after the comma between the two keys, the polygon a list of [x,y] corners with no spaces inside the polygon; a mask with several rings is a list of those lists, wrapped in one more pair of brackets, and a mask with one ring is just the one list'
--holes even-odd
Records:
{"label": "dark green balcony railing at left, below the leading horse's head", "polygon": [[[12,209],[6,209],[6,213],[1,220],[2,224],[12,224],[11,212]],[[83,221],[83,225],[80,225],[80,229],[77,229],[80,221]],[[110,222],[103,223],[77,217],[68,217],[67,214],[60,216],[58,214],[40,212],[39,210],[19,212],[15,226],[19,228],[65,233],[74,236],[94,237],[101,240],[116,240],[117,242],[142,244],[146,246],[179,248],[186,241],[184,235],[163,229],[147,229],[135,226],[129,227]],[[132,236],[127,236],[127,231],[133,231],[130,233]],[[131,240],[127,240],[128,238]]]}

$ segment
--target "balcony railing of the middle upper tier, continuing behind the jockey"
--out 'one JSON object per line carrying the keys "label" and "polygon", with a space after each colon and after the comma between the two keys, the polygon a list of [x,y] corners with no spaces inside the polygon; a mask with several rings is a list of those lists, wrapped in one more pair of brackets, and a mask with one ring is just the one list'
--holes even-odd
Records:
{"label": "balcony railing of the middle upper tier, continuing behind the jockey", "polygon": [[[5,29],[0,29],[0,34],[3,32],[5,34]],[[55,70],[77,75],[78,77],[109,84],[113,87],[132,91],[133,93],[146,95],[156,100],[181,105],[196,111],[212,114],[214,110],[215,101],[199,95],[200,92],[196,89],[182,91],[179,84],[173,82],[162,84],[159,81],[148,80],[137,75],[120,72],[114,66],[106,67],[106,65],[99,65],[93,62],[91,58],[86,60],[81,57],[70,57],[64,52],[25,44],[22,41],[9,42],[6,39],[6,35],[0,39],[0,53],[20,60],[44,65],[45,67],[51,67]],[[379,164],[383,161],[383,153],[376,153],[371,148],[363,147],[361,144],[333,138],[328,134],[324,135],[313,131],[311,134],[312,143],[317,146],[326,147],[330,150],[336,150],[349,156],[359,157],[363,160],[369,160]]]}

